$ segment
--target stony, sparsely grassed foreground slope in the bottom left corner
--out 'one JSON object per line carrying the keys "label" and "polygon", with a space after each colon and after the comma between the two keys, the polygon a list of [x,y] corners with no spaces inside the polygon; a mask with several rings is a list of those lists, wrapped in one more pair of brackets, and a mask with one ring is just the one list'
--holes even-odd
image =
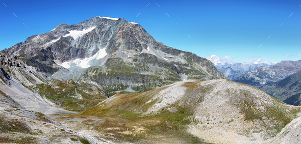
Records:
{"label": "stony, sparsely grassed foreground slope in the bottom left corner", "polygon": [[23,108],[0,107],[0,133],[1,143],[112,143]]}

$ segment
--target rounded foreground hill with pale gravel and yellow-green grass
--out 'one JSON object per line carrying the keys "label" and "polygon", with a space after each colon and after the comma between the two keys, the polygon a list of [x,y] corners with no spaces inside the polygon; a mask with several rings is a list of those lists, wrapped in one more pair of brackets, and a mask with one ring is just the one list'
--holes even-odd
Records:
{"label": "rounded foreground hill with pale gravel and yellow-green grass", "polygon": [[[234,128],[235,132],[246,136],[250,136],[253,132],[264,131],[267,134],[264,138],[267,139],[280,132],[283,127],[296,117],[296,113],[300,111],[299,107],[286,105],[266,95],[257,88],[249,87],[249,85],[227,80],[221,81],[220,83],[213,82],[211,84],[207,83],[207,85],[199,85],[199,83],[202,82],[206,83],[208,81],[194,80],[183,82],[182,87],[187,88],[184,97],[177,102],[168,104],[168,106],[160,109],[157,113],[145,114],[153,105],[162,102],[160,98],[153,98],[164,89],[173,86],[158,88],[145,93],[117,94],[80,114],[83,116],[97,116],[99,118],[114,118],[117,116],[118,119],[120,119],[119,123],[131,121],[133,125],[144,121],[158,121],[156,126],[150,125],[149,127],[148,124],[142,125],[145,130],[132,134],[134,136],[139,135],[145,137],[146,135],[154,136],[164,134],[166,136],[167,133],[164,133],[164,130],[169,127],[171,128],[171,131],[169,131],[170,134],[174,132],[176,133],[175,135],[180,138],[182,133],[185,135],[185,128],[188,125],[199,124],[208,126],[208,124],[212,124],[211,127]],[[218,84],[221,85],[221,90],[214,92],[215,89],[219,87]],[[247,89],[246,91],[239,90],[239,88],[232,89],[229,88],[231,84],[239,84],[239,87],[245,87]],[[253,91],[256,91],[256,94],[252,94]],[[228,97],[230,108],[232,108],[233,111],[222,112],[224,109],[228,109],[228,104],[224,104],[221,108],[214,106],[214,103],[219,103],[219,101],[212,102],[215,100],[214,98],[216,98],[214,96],[210,98],[211,100],[206,100],[210,93],[213,93],[216,97],[221,94],[225,95],[222,97]],[[262,96],[257,97],[256,95]],[[221,99],[218,98],[218,100]],[[265,101],[267,101],[267,103]],[[212,102],[212,105],[209,105],[212,106],[210,109],[215,109],[215,111],[210,112],[210,109],[203,108],[206,107],[206,103],[209,102]],[[262,106],[264,109],[261,109]],[[205,111],[205,113],[200,111]],[[207,118],[206,111],[212,114],[212,119]],[[238,116],[238,119],[236,119],[235,116],[231,116],[233,112],[237,113],[235,116]],[[198,118],[195,116],[198,116]],[[108,123],[111,122],[108,120]],[[131,127],[131,124],[129,124],[128,127]],[[238,124],[243,128],[235,129],[235,127],[231,126],[234,124]],[[113,124],[111,126],[113,126]],[[177,129],[177,127],[180,129]],[[156,130],[156,132],[154,130]],[[147,138],[147,136],[145,138]],[[196,139],[198,139],[199,142],[204,142],[202,139]]]}

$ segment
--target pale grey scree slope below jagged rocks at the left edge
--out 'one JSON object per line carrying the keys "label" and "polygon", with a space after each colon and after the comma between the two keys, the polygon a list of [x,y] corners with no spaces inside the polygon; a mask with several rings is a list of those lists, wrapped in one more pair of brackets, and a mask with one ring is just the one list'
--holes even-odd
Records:
{"label": "pale grey scree slope below jagged rocks at the left edge", "polygon": [[32,84],[40,84],[51,79],[45,76],[39,68],[31,66],[19,56],[10,56],[4,52],[0,52],[0,60],[0,92],[5,102],[0,107],[10,105],[9,107],[21,106],[43,113],[70,113],[64,109],[49,106],[54,104],[31,88]]}

